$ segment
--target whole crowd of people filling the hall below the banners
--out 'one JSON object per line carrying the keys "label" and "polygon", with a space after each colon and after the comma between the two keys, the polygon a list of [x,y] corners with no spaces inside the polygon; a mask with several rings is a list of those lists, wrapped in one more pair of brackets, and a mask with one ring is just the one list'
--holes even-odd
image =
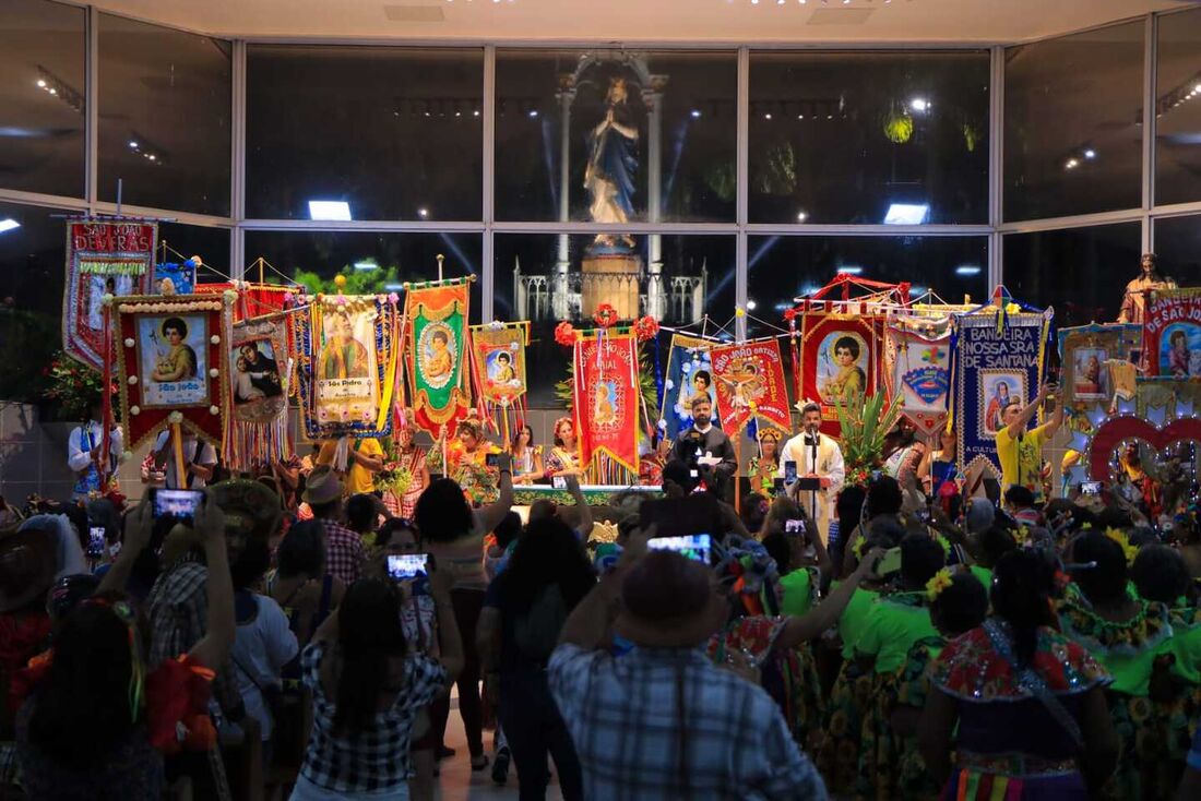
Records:
{"label": "whole crowd of people filling the hall below the banners", "polygon": [[[438,454],[401,431],[246,476],[196,440],[175,474],[160,443],[143,480],[202,489],[185,518],[80,476],[0,534],[5,790],[431,799],[465,759],[522,799],[552,775],[564,799],[1201,797],[1195,504],[1044,502],[1024,446],[1002,498],[968,497],[954,438],[904,432],[866,485],[781,482],[777,452],[829,473],[808,410],[736,510],[706,405],[651,446],[662,497],[600,508],[566,418],[545,453],[466,420]],[[519,514],[549,473],[573,503]]]}

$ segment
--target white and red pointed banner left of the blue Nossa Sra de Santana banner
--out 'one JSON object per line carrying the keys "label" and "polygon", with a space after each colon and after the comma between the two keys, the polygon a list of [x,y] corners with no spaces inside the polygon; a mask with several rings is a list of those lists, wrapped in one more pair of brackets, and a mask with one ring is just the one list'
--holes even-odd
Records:
{"label": "white and red pointed banner left of the blue Nossa Sra de Santana banner", "polygon": [[895,317],[885,327],[885,376],[901,413],[931,437],[946,424],[951,388],[950,317]]}

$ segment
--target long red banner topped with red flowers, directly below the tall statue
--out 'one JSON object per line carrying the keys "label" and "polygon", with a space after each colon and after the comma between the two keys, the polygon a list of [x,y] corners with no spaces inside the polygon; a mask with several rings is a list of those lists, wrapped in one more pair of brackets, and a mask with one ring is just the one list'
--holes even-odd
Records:
{"label": "long red banner topped with red flowers, directly below the tall statue", "polygon": [[[611,459],[638,474],[638,340],[632,333],[578,336],[572,410],[580,464]],[[603,472],[603,471],[602,471]]]}

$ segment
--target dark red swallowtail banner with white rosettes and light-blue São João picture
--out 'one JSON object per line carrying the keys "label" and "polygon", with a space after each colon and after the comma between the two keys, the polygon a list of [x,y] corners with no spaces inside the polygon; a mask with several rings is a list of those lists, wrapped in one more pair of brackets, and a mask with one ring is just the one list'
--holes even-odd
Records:
{"label": "dark red swallowtail banner with white rosettes and light-blue S\u00e3o Jo\u00e3o picture", "polygon": [[221,443],[232,303],[232,295],[131,295],[112,303],[127,449],[177,423]]}

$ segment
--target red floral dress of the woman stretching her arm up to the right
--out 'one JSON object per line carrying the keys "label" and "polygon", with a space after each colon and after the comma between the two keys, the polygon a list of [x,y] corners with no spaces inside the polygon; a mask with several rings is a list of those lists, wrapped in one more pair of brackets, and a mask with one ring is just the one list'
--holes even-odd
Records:
{"label": "red floral dress of the woman stretching her arm up to the right", "polygon": [[763,688],[779,704],[793,739],[805,748],[821,724],[821,686],[809,644],[773,650],[787,623],[787,616],[740,617],[710,638],[705,653],[717,664],[724,664],[730,652],[746,656],[760,670]]}

